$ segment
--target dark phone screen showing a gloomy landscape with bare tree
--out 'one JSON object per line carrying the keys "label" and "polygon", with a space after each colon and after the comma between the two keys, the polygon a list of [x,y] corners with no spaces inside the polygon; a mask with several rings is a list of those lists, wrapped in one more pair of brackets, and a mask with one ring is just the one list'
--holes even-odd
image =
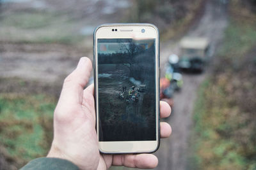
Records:
{"label": "dark phone screen showing a gloomy landscape with bare tree", "polygon": [[156,140],[156,39],[97,39],[99,141]]}

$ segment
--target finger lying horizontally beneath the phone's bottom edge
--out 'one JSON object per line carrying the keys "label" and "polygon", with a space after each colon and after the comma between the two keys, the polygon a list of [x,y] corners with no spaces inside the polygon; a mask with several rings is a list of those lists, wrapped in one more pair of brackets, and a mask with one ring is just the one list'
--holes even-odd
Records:
{"label": "finger lying horizontally beneath the phone's bottom edge", "polygon": [[113,166],[137,167],[152,169],[158,164],[158,159],[152,154],[113,155]]}

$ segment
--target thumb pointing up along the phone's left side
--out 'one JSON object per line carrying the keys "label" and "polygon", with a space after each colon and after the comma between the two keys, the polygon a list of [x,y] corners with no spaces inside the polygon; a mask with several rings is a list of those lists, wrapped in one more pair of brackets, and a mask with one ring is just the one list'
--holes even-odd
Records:
{"label": "thumb pointing up along the phone's left side", "polygon": [[61,91],[60,101],[63,105],[81,104],[83,88],[89,80],[92,71],[92,62],[87,57],[81,57],[76,69],[65,78]]}

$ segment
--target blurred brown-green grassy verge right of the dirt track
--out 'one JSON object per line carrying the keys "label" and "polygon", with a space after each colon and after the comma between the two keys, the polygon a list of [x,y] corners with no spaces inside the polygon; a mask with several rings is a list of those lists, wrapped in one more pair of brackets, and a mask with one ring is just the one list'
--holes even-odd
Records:
{"label": "blurred brown-green grassy verge right of the dirt track", "polygon": [[231,4],[218,64],[198,92],[193,169],[256,169],[256,20],[237,9]]}

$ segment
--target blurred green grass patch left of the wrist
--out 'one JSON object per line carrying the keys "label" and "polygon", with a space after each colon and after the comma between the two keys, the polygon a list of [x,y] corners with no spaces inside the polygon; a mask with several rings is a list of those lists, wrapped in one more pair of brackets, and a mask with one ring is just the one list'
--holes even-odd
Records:
{"label": "blurred green grass patch left of the wrist", "polygon": [[43,95],[0,94],[0,145],[20,166],[47,154],[55,104]]}

